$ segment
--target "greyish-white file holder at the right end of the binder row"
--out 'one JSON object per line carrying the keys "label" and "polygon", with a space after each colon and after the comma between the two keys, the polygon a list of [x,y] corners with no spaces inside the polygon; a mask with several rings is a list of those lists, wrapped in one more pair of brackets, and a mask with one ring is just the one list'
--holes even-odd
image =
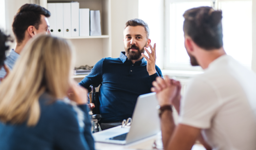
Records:
{"label": "greyish-white file holder at the right end of the binder row", "polygon": [[100,12],[90,11],[90,36],[101,35]]}

